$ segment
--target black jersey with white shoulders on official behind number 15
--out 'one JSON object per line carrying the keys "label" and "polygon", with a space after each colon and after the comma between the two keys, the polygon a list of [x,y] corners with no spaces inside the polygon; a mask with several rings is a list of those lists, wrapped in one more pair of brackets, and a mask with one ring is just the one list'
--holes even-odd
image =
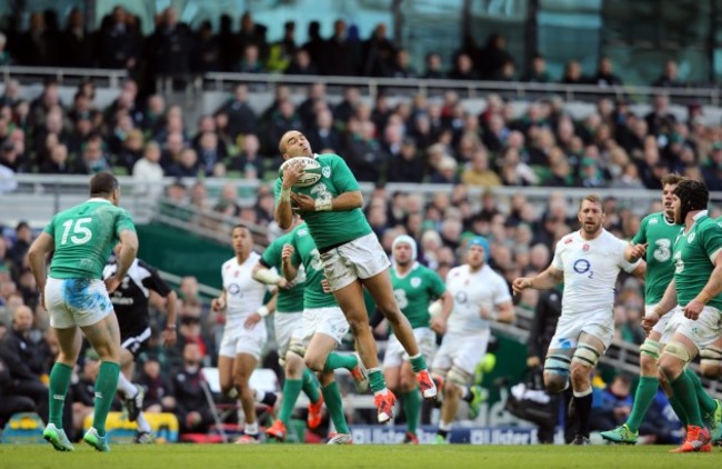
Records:
{"label": "black jersey with white shoulders on official behind number 15", "polygon": [[[117,271],[118,263],[113,259],[106,265],[103,279],[113,276]],[[110,295],[110,301],[118,316],[121,339],[137,336],[150,327],[148,297],[151,290],[163,298],[168,298],[171,292],[168,283],[160,278],[156,269],[136,259],[118,289]]]}

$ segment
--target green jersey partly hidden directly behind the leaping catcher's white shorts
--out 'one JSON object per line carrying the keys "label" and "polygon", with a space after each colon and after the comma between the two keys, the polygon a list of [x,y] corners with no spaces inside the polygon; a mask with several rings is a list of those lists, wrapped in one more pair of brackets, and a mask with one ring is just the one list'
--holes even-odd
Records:
{"label": "green jersey partly hidden directly behind the leaping catcher's white shorts", "polygon": [[303,286],[303,309],[338,307],[332,293],[323,292],[321,280],[323,263],[315,242],[311,237],[305,222],[291,231],[290,245],[295,249],[291,262],[305,268],[305,283]]}

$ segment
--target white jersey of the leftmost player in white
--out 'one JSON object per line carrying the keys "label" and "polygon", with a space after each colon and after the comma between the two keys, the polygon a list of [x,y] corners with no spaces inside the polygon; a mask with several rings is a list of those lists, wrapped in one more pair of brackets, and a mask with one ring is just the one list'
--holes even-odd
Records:
{"label": "white jersey of the leftmost player in white", "polygon": [[242,327],[245,319],[263,306],[267,287],[253,280],[253,266],[261,257],[251,251],[245,262],[235,258],[223,262],[221,276],[225,289],[225,328]]}

